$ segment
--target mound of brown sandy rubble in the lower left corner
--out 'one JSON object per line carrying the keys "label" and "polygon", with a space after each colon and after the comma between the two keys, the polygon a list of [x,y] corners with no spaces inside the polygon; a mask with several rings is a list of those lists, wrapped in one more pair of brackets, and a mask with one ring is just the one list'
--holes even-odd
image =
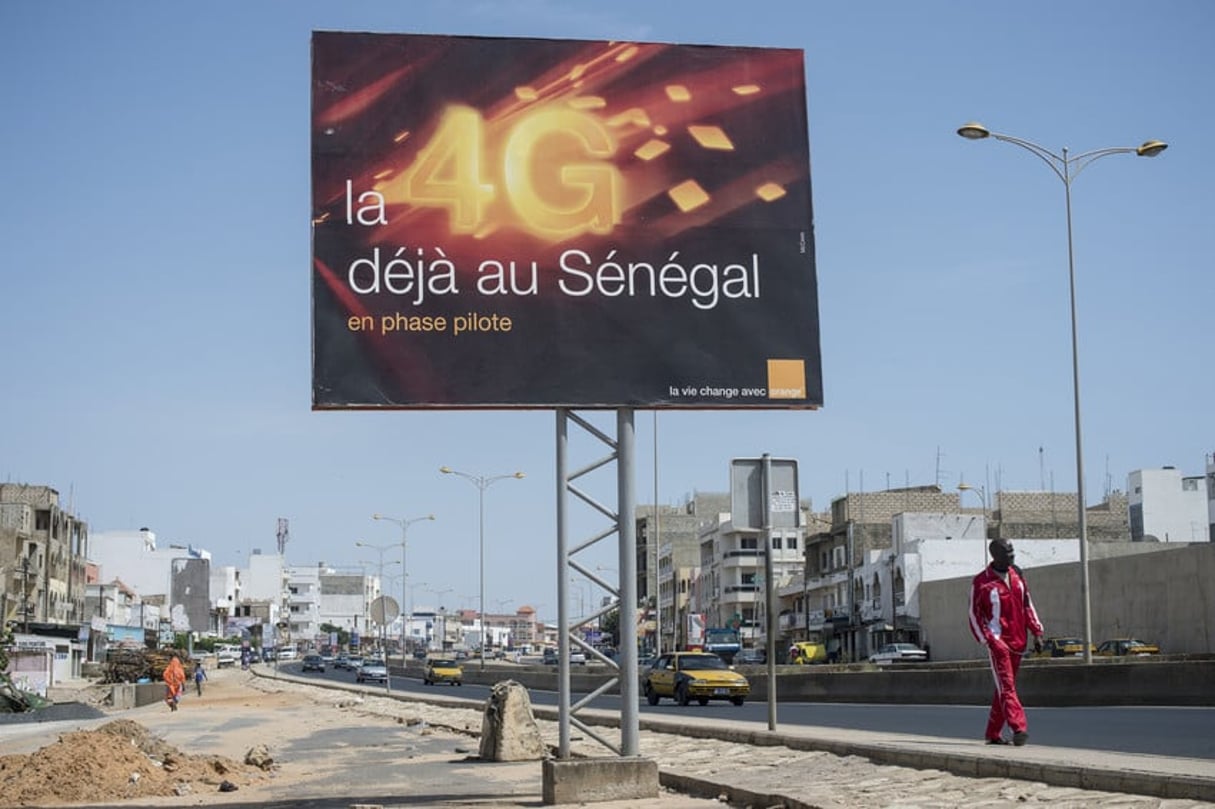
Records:
{"label": "mound of brown sandy rubble in the lower left corner", "polygon": [[29,754],[0,757],[6,807],[62,807],[217,792],[258,777],[221,756],[188,756],[129,719],[60,736]]}

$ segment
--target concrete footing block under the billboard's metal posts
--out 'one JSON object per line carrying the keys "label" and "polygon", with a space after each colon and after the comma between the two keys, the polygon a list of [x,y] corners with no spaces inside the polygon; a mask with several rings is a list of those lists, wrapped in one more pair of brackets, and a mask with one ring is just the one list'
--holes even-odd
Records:
{"label": "concrete footing block under the billboard's metal posts", "polygon": [[546,805],[656,798],[659,765],[649,758],[549,758],[542,794]]}

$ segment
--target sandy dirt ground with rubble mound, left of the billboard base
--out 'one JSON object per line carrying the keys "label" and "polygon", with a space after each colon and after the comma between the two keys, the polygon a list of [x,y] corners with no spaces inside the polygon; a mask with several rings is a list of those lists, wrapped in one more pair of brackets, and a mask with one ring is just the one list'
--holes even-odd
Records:
{"label": "sandy dirt ground with rubble mound, left of the billboard base", "polygon": [[[479,759],[477,709],[262,679],[239,669],[210,677],[203,696],[188,691],[174,712],[157,703],[104,719],[53,723],[69,729],[35,726],[0,736],[0,807],[542,805],[539,762]],[[90,689],[79,697],[103,707],[107,691]],[[143,752],[106,728],[119,719],[128,736],[158,747]],[[555,743],[554,723],[542,723],[542,732]],[[166,757],[164,751],[173,752]],[[255,758],[264,766],[244,763],[250,751],[260,752]],[[221,792],[224,781],[236,790]],[[594,805],[720,804],[665,793],[652,803]]]}

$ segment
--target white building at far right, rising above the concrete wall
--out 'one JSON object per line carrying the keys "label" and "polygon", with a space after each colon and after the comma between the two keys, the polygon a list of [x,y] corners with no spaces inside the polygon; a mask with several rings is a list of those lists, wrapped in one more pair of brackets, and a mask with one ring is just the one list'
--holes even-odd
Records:
{"label": "white building at far right, rising above the concrete wall", "polygon": [[1202,475],[1183,477],[1174,466],[1128,475],[1132,542],[1210,541],[1210,502]]}

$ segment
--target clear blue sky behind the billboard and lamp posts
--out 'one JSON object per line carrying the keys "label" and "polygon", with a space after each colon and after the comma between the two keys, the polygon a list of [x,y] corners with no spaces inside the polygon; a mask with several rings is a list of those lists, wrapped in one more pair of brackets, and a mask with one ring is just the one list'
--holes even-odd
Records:
{"label": "clear blue sky behind the billboard and lamp posts", "polygon": [[[806,51],[826,403],[660,414],[662,503],[765,452],[799,462],[819,509],[906,482],[1074,491],[1063,183],[959,138],[972,119],[1073,153],[1170,143],[1073,186],[1087,497],[1137,468],[1200,474],[1215,451],[1203,0],[9,0],[0,480],[216,564],[273,550],[277,517],[293,564],[374,564],[355,542],[399,531],[372,513],[434,513],[411,527],[411,582],[475,607],[476,490],[437,470],[519,469],[486,493],[486,606],[555,615],[552,412],[310,411],[316,29]],[[654,437],[639,412],[643,503]],[[599,555],[615,566],[614,543]]]}

